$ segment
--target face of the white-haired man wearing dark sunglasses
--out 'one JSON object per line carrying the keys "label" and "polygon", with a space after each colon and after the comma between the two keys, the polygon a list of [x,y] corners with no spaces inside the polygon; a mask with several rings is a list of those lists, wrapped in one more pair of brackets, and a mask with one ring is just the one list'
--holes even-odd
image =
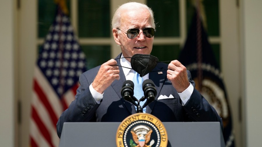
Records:
{"label": "face of the white-haired man wearing dark sunglasses", "polygon": [[[150,54],[153,47],[152,38],[147,38],[142,29],[138,36],[134,39],[129,39],[127,34],[128,29],[134,28],[148,28],[152,27],[150,13],[147,9],[132,10],[122,13],[121,15],[121,26],[119,34],[116,33],[117,29],[113,29],[114,38],[118,45],[121,46],[121,51],[124,57],[132,57],[134,54]],[[124,31],[124,32],[123,32]],[[130,61],[130,58],[127,58]]]}

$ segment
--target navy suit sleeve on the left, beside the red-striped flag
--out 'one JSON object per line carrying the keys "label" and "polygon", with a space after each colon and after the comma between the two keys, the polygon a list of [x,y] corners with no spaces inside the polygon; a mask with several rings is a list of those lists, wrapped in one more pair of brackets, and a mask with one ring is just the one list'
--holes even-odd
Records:
{"label": "navy suit sleeve on the left, beside the red-striped flag", "polygon": [[75,100],[71,102],[68,109],[66,109],[60,116],[56,131],[60,138],[64,122],[89,122],[93,121],[95,111],[99,104],[97,104],[89,90],[89,84],[85,75],[79,77],[80,86],[77,88]]}

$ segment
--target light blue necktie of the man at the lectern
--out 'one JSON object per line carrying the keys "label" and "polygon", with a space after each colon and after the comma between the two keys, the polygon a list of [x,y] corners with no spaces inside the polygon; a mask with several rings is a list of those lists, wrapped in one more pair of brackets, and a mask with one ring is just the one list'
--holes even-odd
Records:
{"label": "light blue necktie of the man at the lectern", "polygon": [[[139,74],[135,72],[132,81],[134,82],[134,97],[136,97],[137,100],[139,100],[140,98],[142,98],[142,96],[144,96],[144,91],[142,89],[143,78],[141,78]],[[140,102],[140,106],[142,107],[145,102],[146,100]],[[135,108],[137,109],[136,106]],[[146,113],[146,107],[143,109],[143,112]]]}

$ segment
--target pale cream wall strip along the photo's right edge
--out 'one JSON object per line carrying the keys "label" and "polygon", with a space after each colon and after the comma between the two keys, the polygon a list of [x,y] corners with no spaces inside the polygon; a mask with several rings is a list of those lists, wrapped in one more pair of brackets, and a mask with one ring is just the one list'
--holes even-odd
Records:
{"label": "pale cream wall strip along the photo's right edge", "polygon": [[253,147],[261,146],[262,138],[262,1],[242,0],[240,4],[245,136],[247,146]]}

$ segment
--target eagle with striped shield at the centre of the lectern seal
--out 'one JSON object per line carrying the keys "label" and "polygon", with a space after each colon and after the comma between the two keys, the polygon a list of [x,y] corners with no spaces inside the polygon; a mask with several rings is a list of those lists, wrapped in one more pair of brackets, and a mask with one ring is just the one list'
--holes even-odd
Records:
{"label": "eagle with striped shield at the centre of the lectern seal", "polygon": [[151,147],[155,143],[155,141],[152,139],[150,144],[147,145],[150,141],[151,133],[153,132],[153,130],[146,125],[135,126],[130,132],[132,133],[134,142],[137,144],[136,146],[134,146],[133,144],[131,146]]}

